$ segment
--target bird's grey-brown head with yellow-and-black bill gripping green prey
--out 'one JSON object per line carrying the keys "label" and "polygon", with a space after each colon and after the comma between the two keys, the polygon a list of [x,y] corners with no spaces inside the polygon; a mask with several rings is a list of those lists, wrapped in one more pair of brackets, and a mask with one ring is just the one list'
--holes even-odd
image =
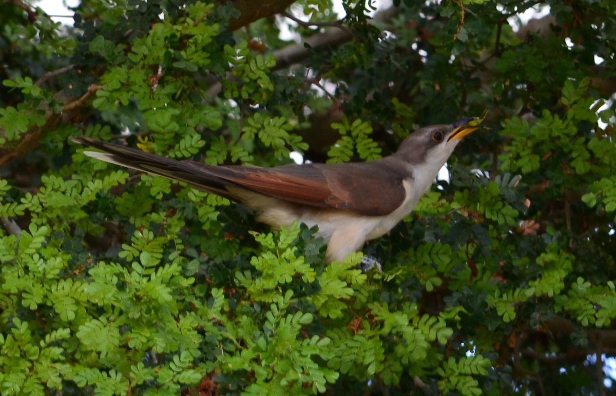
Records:
{"label": "bird's grey-brown head with yellow-and-black bill gripping green prey", "polygon": [[480,119],[464,118],[452,124],[426,126],[408,135],[394,154],[411,165],[434,164],[440,169],[462,138],[479,127]]}

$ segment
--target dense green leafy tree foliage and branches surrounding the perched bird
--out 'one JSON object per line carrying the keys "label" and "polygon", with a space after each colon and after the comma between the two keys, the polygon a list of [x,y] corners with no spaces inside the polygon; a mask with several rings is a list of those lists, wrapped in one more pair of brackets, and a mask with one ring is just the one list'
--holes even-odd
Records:
{"label": "dense green leafy tree foliage and branches surrounding the perched bird", "polygon": [[[606,394],[616,3],[262,3],[94,0],[74,27],[0,6],[0,392]],[[531,7],[543,28],[516,25]],[[370,161],[485,110],[365,246],[381,273],[68,143]]]}

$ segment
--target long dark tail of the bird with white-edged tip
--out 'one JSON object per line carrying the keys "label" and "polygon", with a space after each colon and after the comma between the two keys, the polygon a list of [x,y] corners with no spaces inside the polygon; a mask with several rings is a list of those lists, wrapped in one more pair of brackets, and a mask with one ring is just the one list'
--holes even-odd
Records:
{"label": "long dark tail of the bird with white-edged tip", "polygon": [[226,185],[232,184],[224,177],[225,172],[232,172],[231,169],[193,161],[172,160],[134,148],[101,142],[90,137],[71,137],[71,140],[80,145],[101,150],[102,153],[84,152],[85,155],[97,160],[167,177],[168,179],[180,180],[200,190],[212,192],[230,200],[237,200],[225,188]]}

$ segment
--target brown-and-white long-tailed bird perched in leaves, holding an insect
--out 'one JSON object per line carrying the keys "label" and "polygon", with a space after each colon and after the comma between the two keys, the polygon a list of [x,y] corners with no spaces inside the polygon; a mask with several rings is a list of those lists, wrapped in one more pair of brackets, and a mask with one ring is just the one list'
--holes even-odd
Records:
{"label": "brown-and-white long-tailed bird perched in leaves, holding an insect", "polygon": [[315,236],[327,244],[325,260],[342,262],[413,211],[453,149],[479,122],[472,117],[422,127],[379,160],[272,168],[179,161],[90,137],[71,140],[100,150],[84,151],[97,160],[179,180],[240,203],[274,229],[289,228],[294,221],[317,225]]}

